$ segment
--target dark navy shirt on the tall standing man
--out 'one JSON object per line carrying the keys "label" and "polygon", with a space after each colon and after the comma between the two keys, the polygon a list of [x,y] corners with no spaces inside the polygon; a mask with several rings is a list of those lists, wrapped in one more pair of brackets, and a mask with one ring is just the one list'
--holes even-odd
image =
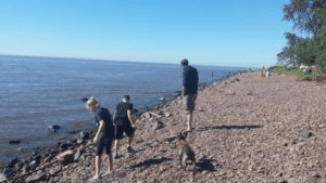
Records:
{"label": "dark navy shirt on the tall standing man", "polygon": [[196,68],[188,66],[184,69],[183,84],[187,88],[186,94],[198,93],[198,71]]}

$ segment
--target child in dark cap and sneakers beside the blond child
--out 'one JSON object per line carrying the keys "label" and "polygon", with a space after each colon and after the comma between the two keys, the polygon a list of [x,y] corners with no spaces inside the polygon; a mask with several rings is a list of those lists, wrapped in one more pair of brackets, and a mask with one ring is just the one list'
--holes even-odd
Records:
{"label": "child in dark cap and sneakers beside the blond child", "polygon": [[116,105],[116,109],[114,113],[114,134],[115,134],[115,156],[114,159],[118,159],[117,155],[118,149],[118,140],[123,139],[123,132],[125,132],[128,136],[128,147],[127,152],[133,153],[131,142],[135,134],[136,125],[131,118],[133,104],[129,103],[130,96],[125,95],[122,99],[122,103]]}

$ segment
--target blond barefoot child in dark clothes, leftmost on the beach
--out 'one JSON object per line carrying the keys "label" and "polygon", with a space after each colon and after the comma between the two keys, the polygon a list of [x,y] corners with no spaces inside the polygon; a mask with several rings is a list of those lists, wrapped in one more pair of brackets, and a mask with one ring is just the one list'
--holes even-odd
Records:
{"label": "blond barefoot child in dark clothes, leftmost on the beach", "polygon": [[[111,155],[111,144],[114,138],[114,127],[112,122],[112,116],[106,108],[100,107],[96,97],[91,96],[87,101],[87,109],[95,113],[96,122],[99,128],[93,139],[93,144],[96,147],[96,174],[92,180],[98,180],[101,172],[101,154],[105,148],[109,169],[105,174],[112,172],[112,155]],[[104,174],[104,175],[105,175]]]}

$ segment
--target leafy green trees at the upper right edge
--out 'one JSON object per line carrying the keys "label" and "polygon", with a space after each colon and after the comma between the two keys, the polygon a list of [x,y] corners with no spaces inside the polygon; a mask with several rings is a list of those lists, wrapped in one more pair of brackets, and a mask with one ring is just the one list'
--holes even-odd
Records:
{"label": "leafy green trees at the upper right edge", "polygon": [[285,4],[283,21],[293,22],[292,28],[312,34],[311,38],[285,32],[286,47],[277,54],[281,64],[326,66],[326,0],[290,0]]}

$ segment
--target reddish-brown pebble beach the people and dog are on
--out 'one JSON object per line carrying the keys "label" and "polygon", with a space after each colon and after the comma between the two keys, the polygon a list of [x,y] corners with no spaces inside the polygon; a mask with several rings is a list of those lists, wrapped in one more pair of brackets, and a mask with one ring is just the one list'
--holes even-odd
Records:
{"label": "reddish-brown pebble beach the people and dog are on", "polygon": [[[326,182],[326,81],[298,81],[292,75],[236,75],[205,87],[197,97],[187,142],[197,172],[178,165],[176,135],[187,129],[180,96],[136,117],[129,154],[113,161],[106,182]],[[136,119],[137,118],[137,119]],[[12,160],[0,182],[90,182],[95,133],[60,148],[43,148],[25,161]],[[102,173],[106,171],[102,164]]]}

